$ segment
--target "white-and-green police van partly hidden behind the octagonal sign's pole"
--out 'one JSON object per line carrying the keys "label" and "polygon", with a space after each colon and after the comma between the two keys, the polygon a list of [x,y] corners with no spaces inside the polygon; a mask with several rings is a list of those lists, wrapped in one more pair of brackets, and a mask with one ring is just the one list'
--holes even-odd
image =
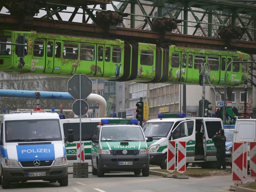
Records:
{"label": "white-and-green police van partly hidden behind the octagonal sign's pole", "polygon": [[[84,162],[89,165],[92,163],[92,136],[101,119],[109,118],[81,118],[81,142],[84,143]],[[68,138],[68,130],[73,130],[74,141],[66,142],[68,166],[73,166],[73,163],[77,162],[76,144],[80,143],[80,118],[66,119],[65,115],[61,114],[60,125],[63,127],[65,138]]]}

